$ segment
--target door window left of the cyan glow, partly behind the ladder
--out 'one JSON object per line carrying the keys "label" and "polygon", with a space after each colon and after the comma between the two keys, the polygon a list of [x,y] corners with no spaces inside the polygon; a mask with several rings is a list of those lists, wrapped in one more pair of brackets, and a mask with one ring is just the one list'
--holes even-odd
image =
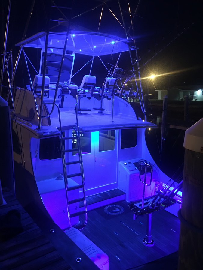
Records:
{"label": "door window left of the cyan glow, partly behind the ladder", "polygon": [[[75,137],[72,140],[72,149],[78,148],[78,140],[76,138],[75,130],[72,131],[72,137]],[[82,133],[80,132],[80,144],[81,144],[81,150],[82,154],[88,154],[91,153],[91,132]],[[72,155],[77,155],[78,150],[75,150],[72,152]]]}

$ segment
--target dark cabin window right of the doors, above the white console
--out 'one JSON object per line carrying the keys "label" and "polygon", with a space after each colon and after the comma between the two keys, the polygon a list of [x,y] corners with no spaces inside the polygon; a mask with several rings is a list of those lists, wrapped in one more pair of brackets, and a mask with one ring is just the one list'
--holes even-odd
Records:
{"label": "dark cabin window right of the doors, above the white console", "polygon": [[137,128],[121,129],[121,149],[137,145]]}

